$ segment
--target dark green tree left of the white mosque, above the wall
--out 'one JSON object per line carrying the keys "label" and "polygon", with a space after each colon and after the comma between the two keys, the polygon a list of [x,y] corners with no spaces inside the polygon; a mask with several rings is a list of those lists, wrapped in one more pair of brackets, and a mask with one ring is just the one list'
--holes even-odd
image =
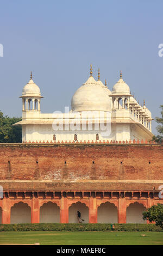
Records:
{"label": "dark green tree left of the white mosque, above the wall", "polygon": [[20,126],[12,126],[12,124],[21,121],[21,118],[8,117],[0,111],[0,143],[21,143],[22,129]]}

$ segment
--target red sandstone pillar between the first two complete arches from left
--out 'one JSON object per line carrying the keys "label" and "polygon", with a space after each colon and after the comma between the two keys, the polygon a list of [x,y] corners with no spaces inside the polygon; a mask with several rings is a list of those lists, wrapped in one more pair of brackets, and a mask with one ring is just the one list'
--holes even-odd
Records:
{"label": "red sandstone pillar between the first two complete arches from left", "polygon": [[40,202],[39,198],[32,198],[32,209],[31,209],[31,223],[39,223],[40,222]]}

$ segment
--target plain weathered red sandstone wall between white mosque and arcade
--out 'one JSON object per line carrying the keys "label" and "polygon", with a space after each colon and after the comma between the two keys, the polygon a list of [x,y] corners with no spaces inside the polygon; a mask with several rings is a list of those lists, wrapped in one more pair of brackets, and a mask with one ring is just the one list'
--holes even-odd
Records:
{"label": "plain weathered red sandstone wall between white mosque and arcade", "polygon": [[1,180],[162,180],[163,145],[0,144],[0,175]]}

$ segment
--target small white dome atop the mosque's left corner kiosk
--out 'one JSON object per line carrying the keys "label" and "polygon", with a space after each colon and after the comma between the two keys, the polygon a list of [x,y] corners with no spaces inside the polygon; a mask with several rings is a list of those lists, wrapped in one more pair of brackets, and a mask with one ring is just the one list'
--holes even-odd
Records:
{"label": "small white dome atop the mosque's left corner kiosk", "polygon": [[32,79],[23,87],[22,96],[41,96],[40,88]]}

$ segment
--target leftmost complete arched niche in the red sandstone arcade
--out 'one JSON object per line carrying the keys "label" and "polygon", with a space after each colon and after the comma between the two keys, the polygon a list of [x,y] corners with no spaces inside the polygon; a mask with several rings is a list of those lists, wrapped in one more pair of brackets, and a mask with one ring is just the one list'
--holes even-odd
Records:
{"label": "leftmost complete arched niche in the red sandstone arcade", "polygon": [[20,202],[11,207],[11,224],[31,223],[31,209],[28,204]]}

